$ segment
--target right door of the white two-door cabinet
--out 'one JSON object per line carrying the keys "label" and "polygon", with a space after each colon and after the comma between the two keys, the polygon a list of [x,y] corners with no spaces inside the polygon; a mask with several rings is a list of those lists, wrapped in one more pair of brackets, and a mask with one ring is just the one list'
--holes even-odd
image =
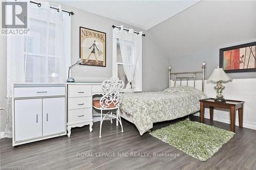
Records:
{"label": "right door of the white two-door cabinet", "polygon": [[42,99],[42,135],[65,132],[65,98]]}

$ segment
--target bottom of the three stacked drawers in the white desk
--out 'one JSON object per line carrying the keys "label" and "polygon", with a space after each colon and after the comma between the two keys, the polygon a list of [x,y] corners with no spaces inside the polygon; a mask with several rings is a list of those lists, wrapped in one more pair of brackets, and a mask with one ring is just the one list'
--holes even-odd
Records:
{"label": "bottom of the three stacked drawers in the white desk", "polygon": [[82,120],[82,119],[92,119],[91,108],[69,110],[69,122]]}

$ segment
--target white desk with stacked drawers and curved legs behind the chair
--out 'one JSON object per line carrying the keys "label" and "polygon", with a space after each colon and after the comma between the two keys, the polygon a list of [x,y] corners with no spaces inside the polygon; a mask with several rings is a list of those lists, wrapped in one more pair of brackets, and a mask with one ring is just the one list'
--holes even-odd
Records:
{"label": "white desk with stacked drawers and curved legs behind the chair", "polygon": [[67,83],[67,112],[68,136],[71,135],[71,128],[90,125],[90,132],[93,130],[92,100],[94,94],[102,94],[101,82],[75,82]]}

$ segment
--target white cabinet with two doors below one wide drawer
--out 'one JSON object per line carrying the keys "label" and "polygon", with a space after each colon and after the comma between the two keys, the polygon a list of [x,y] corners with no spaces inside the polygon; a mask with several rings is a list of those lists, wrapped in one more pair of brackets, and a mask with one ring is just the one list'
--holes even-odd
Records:
{"label": "white cabinet with two doors below one wide drawer", "polygon": [[12,145],[66,135],[65,84],[14,84]]}

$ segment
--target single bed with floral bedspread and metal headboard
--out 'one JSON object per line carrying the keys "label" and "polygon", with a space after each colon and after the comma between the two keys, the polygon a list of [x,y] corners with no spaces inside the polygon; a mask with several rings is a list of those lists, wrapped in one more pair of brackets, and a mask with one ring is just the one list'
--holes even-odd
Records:
{"label": "single bed with floral bedspread and metal headboard", "polygon": [[[202,71],[172,73],[169,67],[167,89],[157,92],[123,93],[120,105],[121,117],[133,123],[142,135],[152,129],[154,123],[173,120],[199,111],[199,100],[207,98],[203,93],[204,68],[204,62]],[[202,74],[201,90],[195,88],[197,74]],[[188,86],[191,79],[194,80],[194,87]],[[186,86],[182,85],[184,81]],[[180,84],[178,85],[177,82]]]}

